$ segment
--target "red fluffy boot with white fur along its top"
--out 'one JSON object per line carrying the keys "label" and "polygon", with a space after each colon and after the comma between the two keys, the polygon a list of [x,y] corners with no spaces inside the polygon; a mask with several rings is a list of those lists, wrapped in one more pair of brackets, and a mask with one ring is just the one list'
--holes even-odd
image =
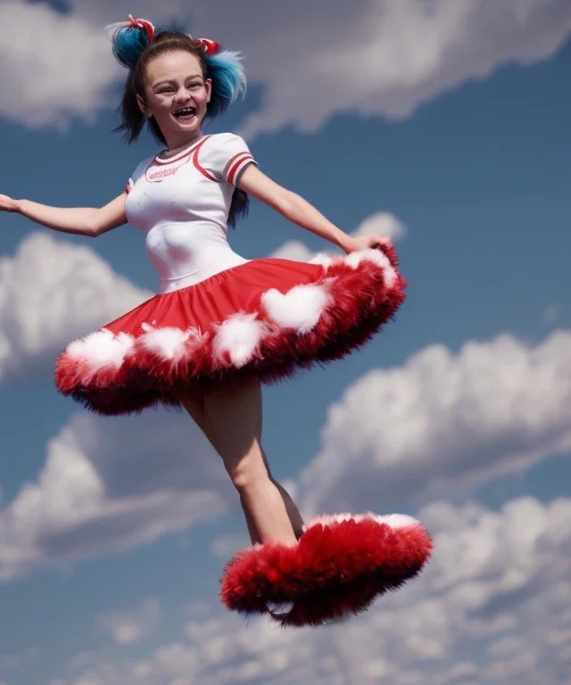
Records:
{"label": "red fluffy boot with white fur along its top", "polygon": [[[387,590],[417,575],[432,551],[411,516],[320,516],[293,547],[254,545],[225,569],[224,605],[269,614],[282,625],[320,625],[365,611]],[[272,606],[287,605],[277,612]]]}

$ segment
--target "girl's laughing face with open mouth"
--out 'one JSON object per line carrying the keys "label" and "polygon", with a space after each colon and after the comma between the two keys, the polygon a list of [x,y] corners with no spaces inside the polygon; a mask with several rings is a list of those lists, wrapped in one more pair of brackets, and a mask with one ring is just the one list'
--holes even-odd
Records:
{"label": "girl's laughing face with open mouth", "polygon": [[177,51],[157,55],[145,69],[145,97],[137,95],[141,111],[153,116],[170,149],[200,136],[211,80],[203,77],[194,54]]}

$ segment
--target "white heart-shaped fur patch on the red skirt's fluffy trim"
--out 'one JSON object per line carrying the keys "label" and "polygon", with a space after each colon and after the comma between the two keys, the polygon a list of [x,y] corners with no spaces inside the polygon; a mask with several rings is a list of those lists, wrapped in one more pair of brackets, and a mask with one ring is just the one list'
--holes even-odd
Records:
{"label": "white heart-shaped fur patch on the red skirt's fluffy trim", "polygon": [[330,301],[324,285],[295,285],[287,293],[275,288],[263,293],[261,306],[280,328],[307,333],[315,327]]}

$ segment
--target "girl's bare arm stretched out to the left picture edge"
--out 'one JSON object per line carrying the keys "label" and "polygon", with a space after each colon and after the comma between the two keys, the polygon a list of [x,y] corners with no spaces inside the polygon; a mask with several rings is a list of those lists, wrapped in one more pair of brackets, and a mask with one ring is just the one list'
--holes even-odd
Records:
{"label": "girl's bare arm stretched out to the left picture edge", "polygon": [[12,200],[0,195],[0,210],[14,211],[47,228],[61,233],[87,235],[95,238],[112,228],[127,223],[125,215],[126,193],[120,194],[104,207],[49,207],[29,200]]}

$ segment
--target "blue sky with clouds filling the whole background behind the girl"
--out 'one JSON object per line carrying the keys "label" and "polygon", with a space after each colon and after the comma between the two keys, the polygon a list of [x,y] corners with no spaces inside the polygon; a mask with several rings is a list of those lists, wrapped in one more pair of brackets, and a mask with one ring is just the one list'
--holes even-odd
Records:
{"label": "blue sky with clouds filling the whole background behind the girl", "polygon": [[[373,217],[403,232],[396,245],[410,286],[396,321],[359,354],[269,388],[265,445],[306,511],[422,518],[436,541],[426,577],[335,628],[280,633],[226,614],[219,574],[244,544],[244,524],[194,427],[162,412],[98,420],[54,390],[62,345],[156,287],[144,236],[121,227],[73,239],[2,215],[2,685],[313,685],[326,676],[340,685],[420,676],[531,685],[539,670],[542,685],[569,681],[571,12],[532,2],[537,12],[517,20],[516,0],[503,3],[505,15],[470,4],[480,21],[464,35],[434,3],[434,17],[458,29],[456,43],[435,20],[418,29],[424,4],[402,4],[403,36],[419,30],[419,43],[406,48],[403,38],[393,49],[418,49],[427,62],[440,45],[442,62],[412,78],[395,60],[390,83],[356,84],[332,60],[338,75],[323,78],[319,102],[309,76],[292,86],[279,49],[261,62],[270,38],[291,45],[294,12],[283,23],[281,10],[263,12],[256,32],[250,2],[236,27],[234,10],[217,18],[206,4],[194,17],[171,8],[201,31],[209,21],[210,36],[243,49],[252,67],[247,100],[215,130],[247,133],[261,169],[343,229]],[[394,4],[377,5],[392,21]],[[14,0],[0,18],[13,21],[12,34],[32,11],[62,35],[69,26],[58,22],[78,21],[78,36],[93,27],[93,45],[74,47],[88,60],[107,49],[99,27],[121,18],[109,6],[103,15],[70,3],[64,16]],[[356,3],[349,24],[338,9],[310,12],[307,30],[316,55],[335,53],[336,37],[351,62],[342,38],[359,35],[367,10]],[[375,54],[372,33],[355,53],[369,41]],[[52,79],[58,110],[8,34],[0,191],[62,206],[107,202],[153,151],[150,139],[128,148],[111,133],[116,100],[101,95],[110,84],[118,92],[111,60],[108,72],[97,67],[90,111],[89,79],[76,82],[58,62],[52,31],[41,43],[42,83]],[[484,57],[459,45],[485,45]],[[65,126],[54,127],[50,111]],[[231,235],[247,257],[287,253],[289,241],[308,254],[327,248],[257,202]]]}

